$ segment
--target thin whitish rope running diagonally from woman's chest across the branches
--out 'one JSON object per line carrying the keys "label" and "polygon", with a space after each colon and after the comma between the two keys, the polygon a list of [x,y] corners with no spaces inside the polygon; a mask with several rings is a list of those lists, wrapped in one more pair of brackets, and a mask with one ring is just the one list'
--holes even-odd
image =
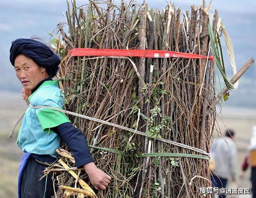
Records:
{"label": "thin whitish rope running diagonally from woman's chest across the branches", "polygon": [[142,131],[134,130],[132,128],[121,126],[119,124],[114,124],[114,123],[111,123],[111,122],[107,122],[107,121],[104,121],[104,120],[101,120],[101,119],[92,118],[92,117],[81,115],[81,114],[76,114],[74,112],[69,112],[69,111],[66,111],[64,109],[55,108],[55,107],[52,107],[52,106],[32,106],[31,104],[29,104],[29,107],[30,108],[51,108],[51,109],[53,109],[55,111],[58,111],[58,112],[63,112],[63,113],[66,113],[66,114],[69,114],[69,115],[72,115],[72,116],[84,118],[84,119],[91,120],[91,121],[94,121],[94,122],[99,122],[99,123],[106,124],[106,125],[109,125],[109,126],[114,126],[116,128],[121,128],[121,129],[124,129],[124,130],[127,130],[127,131],[131,131],[132,133],[135,133],[135,134],[146,136],[148,138],[159,140],[159,141],[162,141],[162,142],[165,142],[165,143],[169,143],[169,144],[172,144],[172,145],[175,145],[175,146],[179,146],[179,147],[187,148],[187,149],[190,149],[190,150],[194,150],[196,152],[200,152],[200,153],[202,153],[204,155],[210,156],[210,154],[208,152],[206,152],[206,151],[204,151],[202,149],[195,148],[195,147],[192,147],[192,146],[188,146],[186,144],[182,144],[182,143],[179,143],[179,142],[174,142],[174,141],[171,141],[171,140],[167,140],[167,139],[164,139],[164,138],[151,137],[151,136],[149,136],[148,134],[146,134],[146,133],[144,133]]}

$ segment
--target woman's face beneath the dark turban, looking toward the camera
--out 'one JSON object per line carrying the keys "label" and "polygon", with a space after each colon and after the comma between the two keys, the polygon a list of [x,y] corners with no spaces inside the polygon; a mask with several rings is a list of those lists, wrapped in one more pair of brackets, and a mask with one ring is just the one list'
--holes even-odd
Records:
{"label": "woman's face beneath the dark turban, looking toward the camera", "polygon": [[39,82],[49,77],[45,68],[39,67],[36,62],[23,54],[15,58],[14,69],[17,78],[28,91],[33,90]]}

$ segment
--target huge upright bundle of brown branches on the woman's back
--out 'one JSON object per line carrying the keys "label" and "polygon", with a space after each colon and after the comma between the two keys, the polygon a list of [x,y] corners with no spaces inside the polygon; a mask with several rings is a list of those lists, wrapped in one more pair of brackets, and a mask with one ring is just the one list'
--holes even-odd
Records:
{"label": "huge upright bundle of brown branches on the woman's back", "polygon": [[[211,186],[207,153],[215,121],[215,108],[210,108],[213,61],[71,57],[68,51],[153,49],[208,56],[208,11],[202,5],[181,12],[171,4],[153,10],[133,1],[68,4],[68,34],[60,25],[64,42],[56,42],[63,58],[65,108],[119,125],[69,116],[84,131],[97,167],[112,177],[98,197],[199,197],[201,187]],[[215,11],[214,33],[217,24]],[[76,183],[63,172],[58,184]],[[63,193],[59,189],[57,196]]]}

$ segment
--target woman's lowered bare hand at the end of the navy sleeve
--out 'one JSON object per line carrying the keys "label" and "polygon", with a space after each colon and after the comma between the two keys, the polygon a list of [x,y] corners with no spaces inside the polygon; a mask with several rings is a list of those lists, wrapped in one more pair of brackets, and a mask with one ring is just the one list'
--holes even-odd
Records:
{"label": "woman's lowered bare hand at the end of the navy sleeve", "polygon": [[111,177],[108,174],[97,168],[93,162],[85,164],[83,168],[88,174],[89,180],[95,189],[106,189],[111,180]]}

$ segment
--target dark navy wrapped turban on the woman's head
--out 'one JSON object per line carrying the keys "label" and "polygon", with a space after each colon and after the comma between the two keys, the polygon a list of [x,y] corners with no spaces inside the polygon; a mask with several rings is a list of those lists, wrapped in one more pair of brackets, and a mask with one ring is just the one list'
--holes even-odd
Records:
{"label": "dark navy wrapped turban on the woman's head", "polygon": [[50,77],[56,75],[60,58],[54,54],[47,45],[37,40],[18,38],[12,41],[10,48],[10,61],[14,66],[14,60],[17,55],[23,54],[35,61],[40,67],[46,69]]}

